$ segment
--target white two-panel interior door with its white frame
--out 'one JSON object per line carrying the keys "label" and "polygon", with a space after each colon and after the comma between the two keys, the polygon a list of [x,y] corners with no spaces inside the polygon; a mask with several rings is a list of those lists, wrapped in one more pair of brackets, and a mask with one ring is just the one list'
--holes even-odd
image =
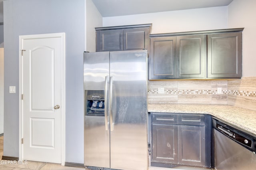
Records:
{"label": "white two-panel interior door with its white frame", "polygon": [[20,41],[22,159],[62,163],[63,37]]}

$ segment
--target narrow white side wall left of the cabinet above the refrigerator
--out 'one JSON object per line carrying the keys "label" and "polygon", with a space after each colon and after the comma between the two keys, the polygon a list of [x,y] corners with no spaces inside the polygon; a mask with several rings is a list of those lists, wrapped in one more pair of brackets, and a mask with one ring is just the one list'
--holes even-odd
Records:
{"label": "narrow white side wall left of the cabinet above the refrigerator", "polygon": [[96,51],[96,27],[102,27],[102,16],[92,0],[86,0],[86,51]]}

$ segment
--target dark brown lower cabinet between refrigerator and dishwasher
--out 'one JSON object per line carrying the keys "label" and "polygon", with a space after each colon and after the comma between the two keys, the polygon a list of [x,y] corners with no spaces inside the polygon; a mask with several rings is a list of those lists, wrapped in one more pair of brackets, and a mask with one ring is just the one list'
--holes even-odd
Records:
{"label": "dark brown lower cabinet between refrigerator and dishwasher", "polygon": [[151,120],[151,166],[211,166],[210,115],[151,113]]}

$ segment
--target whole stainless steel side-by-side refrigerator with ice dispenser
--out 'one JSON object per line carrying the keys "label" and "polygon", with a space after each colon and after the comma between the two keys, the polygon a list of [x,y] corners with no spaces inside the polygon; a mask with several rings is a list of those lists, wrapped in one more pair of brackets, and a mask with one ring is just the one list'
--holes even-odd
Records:
{"label": "whole stainless steel side-by-side refrigerator with ice dispenser", "polygon": [[147,170],[147,115],[147,50],[84,53],[85,166]]}

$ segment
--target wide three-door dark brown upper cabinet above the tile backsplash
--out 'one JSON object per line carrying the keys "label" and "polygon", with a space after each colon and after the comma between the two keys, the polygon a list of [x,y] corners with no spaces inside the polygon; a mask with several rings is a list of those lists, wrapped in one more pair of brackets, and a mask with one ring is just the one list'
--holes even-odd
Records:
{"label": "wide three-door dark brown upper cabinet above the tile backsplash", "polygon": [[151,34],[149,80],[242,77],[242,30]]}

